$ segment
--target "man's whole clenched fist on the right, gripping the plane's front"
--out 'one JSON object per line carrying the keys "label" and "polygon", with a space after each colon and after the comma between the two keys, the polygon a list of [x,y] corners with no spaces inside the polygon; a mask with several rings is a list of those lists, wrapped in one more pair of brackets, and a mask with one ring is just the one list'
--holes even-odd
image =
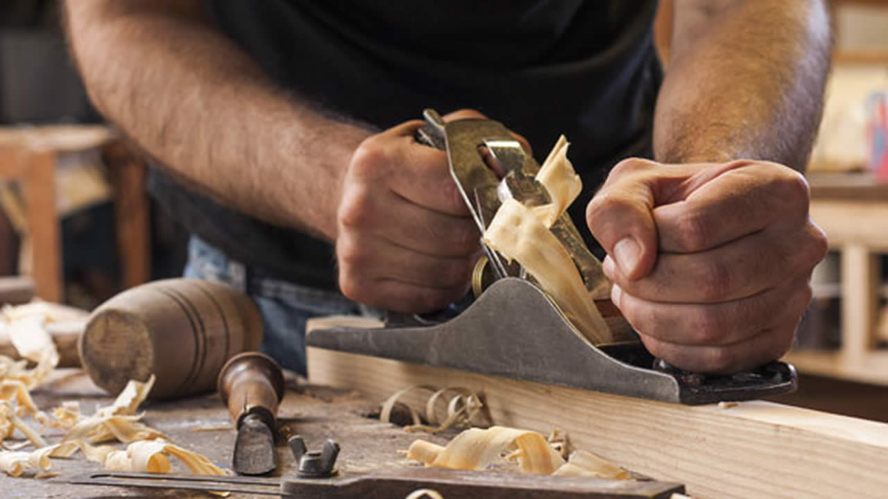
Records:
{"label": "man's whole clenched fist on the right, gripping the plane's front", "polygon": [[614,167],[586,218],[611,298],[655,356],[732,372],[789,350],[827,250],[805,178],[773,162]]}

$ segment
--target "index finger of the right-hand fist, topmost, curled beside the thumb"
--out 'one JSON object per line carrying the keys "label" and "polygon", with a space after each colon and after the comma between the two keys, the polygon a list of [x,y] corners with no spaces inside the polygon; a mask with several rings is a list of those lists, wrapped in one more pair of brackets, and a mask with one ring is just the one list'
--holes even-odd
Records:
{"label": "index finger of the right-hand fist, topmost, curled beside the thumb", "polygon": [[781,221],[801,224],[808,213],[808,186],[795,170],[770,162],[733,162],[713,167],[718,175],[686,186],[681,201],[654,208],[659,246],[696,252],[753,234]]}

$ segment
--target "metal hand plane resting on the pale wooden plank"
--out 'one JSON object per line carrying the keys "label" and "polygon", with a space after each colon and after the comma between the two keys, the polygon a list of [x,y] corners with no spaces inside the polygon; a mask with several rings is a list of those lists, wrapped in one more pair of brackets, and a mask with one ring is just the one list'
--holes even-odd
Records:
{"label": "metal hand plane resting on the pale wooden plank", "polygon": [[[481,234],[506,198],[528,207],[549,202],[545,187],[534,178],[539,165],[502,124],[480,119],[444,123],[431,109],[424,117],[418,139],[447,152],[450,172]],[[567,249],[590,297],[607,297],[610,283],[601,264],[567,213],[550,230]],[[750,372],[705,375],[654,359],[631,331],[618,341],[593,345],[532,275],[482,247],[486,258],[476,267],[474,296],[465,303],[439,313],[389,314],[383,328],[316,329],[305,344],[683,404],[758,399],[797,387],[795,368],[780,361]]]}

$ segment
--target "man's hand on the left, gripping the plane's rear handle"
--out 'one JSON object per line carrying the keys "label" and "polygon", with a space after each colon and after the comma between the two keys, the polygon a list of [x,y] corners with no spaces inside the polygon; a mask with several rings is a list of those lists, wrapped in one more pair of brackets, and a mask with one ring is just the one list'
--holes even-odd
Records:
{"label": "man's hand on the left, gripping the plane's rear handle", "polygon": [[[482,117],[458,112],[445,119]],[[423,122],[370,136],[345,171],[337,212],[339,288],[397,312],[429,312],[463,297],[480,233],[450,176],[447,154],[416,142]]]}

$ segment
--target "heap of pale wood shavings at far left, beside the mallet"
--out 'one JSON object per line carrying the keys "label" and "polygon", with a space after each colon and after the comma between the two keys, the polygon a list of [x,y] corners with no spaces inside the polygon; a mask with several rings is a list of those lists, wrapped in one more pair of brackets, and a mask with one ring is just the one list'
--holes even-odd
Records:
{"label": "heap of pale wood shavings at far left, beside the mallet", "polygon": [[[52,457],[69,457],[80,450],[91,462],[113,471],[143,471],[169,473],[170,457],[178,458],[195,474],[226,475],[226,471],[210,462],[205,456],[174,445],[170,439],[140,420],[145,413],[137,414],[155,383],[155,376],[145,382],[130,381],[108,406],[97,408],[91,416],[85,416],[76,401],[63,402],[49,415],[37,408],[30,390],[43,384],[59,363],[59,352],[52,338],[44,329],[48,317],[43,303],[4,307],[4,332],[23,360],[13,360],[0,355],[0,470],[12,477],[33,474],[49,476]],[[28,360],[36,362],[35,368],[27,368]],[[36,422],[39,431],[25,419]],[[41,435],[47,428],[66,431],[62,440],[48,445]],[[27,439],[14,444],[14,432]],[[129,444],[125,449],[111,445],[95,444],[120,441]],[[20,450],[33,446],[34,450]]]}

